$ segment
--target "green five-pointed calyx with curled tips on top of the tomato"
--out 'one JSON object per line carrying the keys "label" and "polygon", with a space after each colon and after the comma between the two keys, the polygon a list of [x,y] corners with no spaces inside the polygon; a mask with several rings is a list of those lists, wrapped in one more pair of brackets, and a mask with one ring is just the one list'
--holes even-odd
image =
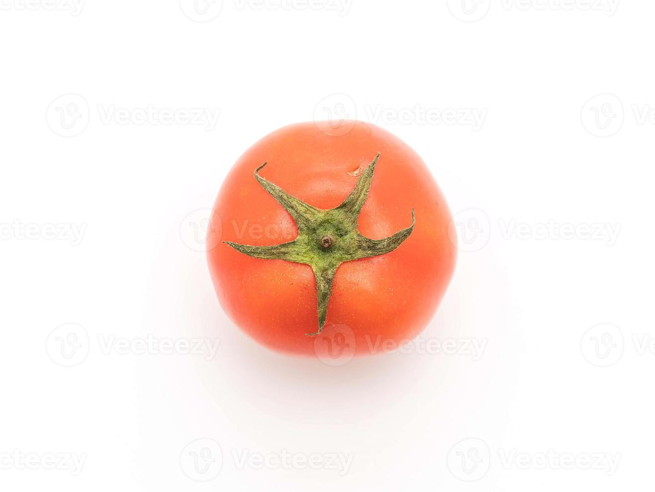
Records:
{"label": "green five-pointed calyx with curled tips on top of the tomato", "polygon": [[390,253],[414,230],[415,218],[412,209],[411,226],[396,232],[393,236],[369,239],[358,231],[358,217],[371,188],[373,172],[379,157],[380,154],[377,154],[375,160],[360,175],[355,189],[348,198],[337,208],[329,210],[312,207],[261,177],[259,171],[266,166],[267,163],[264,163],[255,170],[255,179],[290,213],[298,228],[298,236],[290,243],[274,246],[248,246],[225,241],[236,251],[253,258],[286,260],[312,267],[318,294],[318,331],[308,333],[308,336],[320,334],[325,326],[332,282],[339,265],[343,262]]}

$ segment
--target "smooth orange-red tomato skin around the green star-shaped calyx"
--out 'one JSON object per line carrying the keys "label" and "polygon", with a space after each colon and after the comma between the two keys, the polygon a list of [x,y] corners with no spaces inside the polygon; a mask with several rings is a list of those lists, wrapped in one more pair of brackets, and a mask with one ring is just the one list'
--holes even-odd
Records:
{"label": "smooth orange-red tomato skin around the green star-shaped calyx", "polygon": [[[348,130],[350,127],[350,131]],[[416,225],[398,249],[339,266],[327,310],[329,325],[354,333],[356,354],[386,340],[412,339],[430,321],[455,269],[451,213],[421,158],[400,139],[364,122],[301,123],[276,130],[246,150],[214,204],[208,262],[217,296],[231,319],[257,342],[282,353],[314,356],[316,283],[309,265],[252,258],[221,241],[286,243],[297,236],[291,216],[253,177],[261,175],[304,202],[337,207],[375,155],[359,230],[371,239]],[[455,237],[451,234],[450,237]]]}

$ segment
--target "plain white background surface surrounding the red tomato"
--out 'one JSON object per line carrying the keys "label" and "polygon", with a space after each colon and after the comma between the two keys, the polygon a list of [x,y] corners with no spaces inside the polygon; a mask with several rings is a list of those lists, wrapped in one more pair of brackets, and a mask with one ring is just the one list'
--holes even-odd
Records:
{"label": "plain white background surface surrounding the red tomato", "polygon": [[[652,2],[71,5],[1,2],[1,489],[652,484]],[[409,353],[338,366],[246,338],[194,235],[248,146],[330,114],[421,154],[465,250]]]}

